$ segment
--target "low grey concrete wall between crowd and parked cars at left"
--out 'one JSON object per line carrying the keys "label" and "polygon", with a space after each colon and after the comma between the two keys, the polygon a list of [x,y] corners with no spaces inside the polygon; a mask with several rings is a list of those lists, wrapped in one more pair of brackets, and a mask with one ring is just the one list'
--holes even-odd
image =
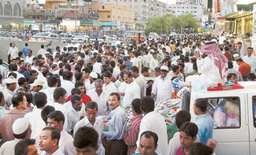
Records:
{"label": "low grey concrete wall between crowd and parked cars at left", "polygon": [[[9,44],[11,42],[14,42],[16,44],[16,47],[18,47],[19,51],[22,51],[23,47],[25,47],[25,43],[28,43],[28,47],[33,51],[33,55],[37,56],[38,50],[41,49],[41,44],[47,44],[42,42],[25,42],[25,41],[10,41],[10,40],[1,40],[0,41],[0,58],[8,62],[8,58],[6,56],[6,53],[9,49]],[[59,46],[60,48],[67,46],[67,43],[52,43],[52,46],[56,47]],[[46,50],[46,48],[45,48]],[[23,56],[24,57],[24,56]]]}

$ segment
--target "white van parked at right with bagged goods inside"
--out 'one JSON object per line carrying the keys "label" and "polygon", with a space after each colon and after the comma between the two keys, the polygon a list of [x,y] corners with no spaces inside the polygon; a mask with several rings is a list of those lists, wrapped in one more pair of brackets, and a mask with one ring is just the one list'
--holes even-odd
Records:
{"label": "white van parked at right with bagged goods inside", "polygon": [[[182,95],[181,102],[184,104],[181,109],[191,113],[192,122],[195,122],[196,117],[193,109],[195,99],[207,99],[207,111],[215,118],[215,124],[218,124],[212,137],[218,142],[216,154],[256,154],[256,81],[238,83],[244,89],[207,92],[191,90],[190,94],[187,92],[187,95]],[[218,109],[221,108],[226,116],[218,119]]]}

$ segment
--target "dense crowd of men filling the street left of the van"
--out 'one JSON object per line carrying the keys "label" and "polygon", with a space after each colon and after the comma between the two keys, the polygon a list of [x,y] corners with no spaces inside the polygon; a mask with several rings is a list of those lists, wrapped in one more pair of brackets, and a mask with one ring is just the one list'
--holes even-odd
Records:
{"label": "dense crowd of men filling the street left of the van", "polygon": [[[178,132],[168,142],[155,102],[177,98],[172,81],[201,75],[203,44],[213,41],[227,57],[227,80],[254,81],[256,59],[250,33],[220,37],[182,36],[77,47],[11,43],[9,73],[0,60],[0,154],[213,154],[213,122],[207,101],[197,99],[175,117]],[[46,49],[46,50],[45,50]],[[201,71],[201,73],[200,73]],[[151,77],[151,80],[146,80]],[[134,118],[127,129],[124,108]],[[98,114],[109,113],[109,128]]]}

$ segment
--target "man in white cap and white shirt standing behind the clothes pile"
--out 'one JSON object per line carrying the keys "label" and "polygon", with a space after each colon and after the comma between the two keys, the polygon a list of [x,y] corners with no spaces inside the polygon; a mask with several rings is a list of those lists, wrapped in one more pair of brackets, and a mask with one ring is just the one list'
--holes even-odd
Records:
{"label": "man in white cap and white shirt standing behind the clothes pile", "polygon": [[169,68],[167,66],[161,66],[161,75],[155,78],[155,82],[152,85],[151,98],[155,98],[156,102],[164,101],[171,98],[174,88],[171,84],[171,76],[168,75]]}

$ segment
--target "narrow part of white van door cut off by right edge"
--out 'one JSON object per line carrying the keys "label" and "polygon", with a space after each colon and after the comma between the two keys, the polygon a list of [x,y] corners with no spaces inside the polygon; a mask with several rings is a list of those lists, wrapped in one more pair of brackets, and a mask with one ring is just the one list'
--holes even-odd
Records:
{"label": "narrow part of white van door cut off by right edge", "polygon": [[256,154],[256,93],[248,93],[248,118],[250,154]]}

